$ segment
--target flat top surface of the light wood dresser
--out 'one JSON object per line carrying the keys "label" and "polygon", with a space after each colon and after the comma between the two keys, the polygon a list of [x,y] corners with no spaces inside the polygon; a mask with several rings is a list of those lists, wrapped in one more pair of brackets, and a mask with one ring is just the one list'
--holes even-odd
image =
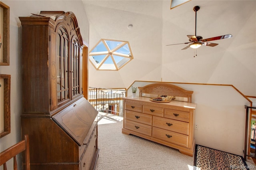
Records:
{"label": "flat top surface of the light wood dresser", "polygon": [[[132,101],[142,101],[149,103],[158,103],[150,101],[149,97],[136,97],[132,98],[131,96],[124,97],[123,99],[132,100]],[[182,101],[170,101],[169,103],[158,103],[160,105],[169,105],[169,106],[177,106],[177,107],[185,107],[188,109],[196,109],[196,103],[188,103],[188,102],[182,102]]]}

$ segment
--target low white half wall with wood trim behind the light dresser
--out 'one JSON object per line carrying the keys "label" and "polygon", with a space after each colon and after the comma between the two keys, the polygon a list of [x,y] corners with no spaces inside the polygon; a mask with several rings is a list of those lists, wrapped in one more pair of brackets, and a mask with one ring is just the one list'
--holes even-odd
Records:
{"label": "low white half wall with wood trim behind the light dresser", "polygon": [[[133,87],[153,82],[135,81]],[[243,156],[246,109],[250,102],[232,86],[171,83],[194,91],[196,144]],[[131,88],[128,89],[131,96]],[[137,91],[139,95],[139,91]]]}

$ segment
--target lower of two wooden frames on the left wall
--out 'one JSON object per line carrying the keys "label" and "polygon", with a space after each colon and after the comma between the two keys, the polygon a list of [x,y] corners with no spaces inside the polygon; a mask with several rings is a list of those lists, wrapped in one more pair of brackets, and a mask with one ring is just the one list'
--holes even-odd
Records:
{"label": "lower of two wooden frames on the left wall", "polygon": [[0,138],[11,132],[11,75],[0,74]]}

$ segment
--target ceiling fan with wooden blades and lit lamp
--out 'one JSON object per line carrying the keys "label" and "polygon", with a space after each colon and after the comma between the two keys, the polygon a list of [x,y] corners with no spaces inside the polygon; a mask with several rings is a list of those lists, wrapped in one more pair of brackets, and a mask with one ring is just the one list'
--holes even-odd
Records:
{"label": "ceiling fan with wooden blades and lit lamp", "polygon": [[[194,12],[197,12],[199,9],[200,9],[199,6],[195,6],[193,8]],[[202,36],[197,36],[196,35],[196,23],[195,23],[195,35],[187,35],[187,37],[188,37],[189,42],[186,42],[186,43],[176,43],[176,44],[170,44],[170,45],[189,44],[188,46],[186,46],[186,47],[184,47],[182,49],[187,49],[188,47],[198,48],[201,45],[206,45],[206,46],[214,47],[214,46],[218,45],[218,43],[211,43],[210,41],[221,40],[221,39],[225,39],[225,38],[231,38],[232,35],[231,34],[226,34],[226,35],[223,35],[223,36],[217,36],[217,37],[203,39]]]}

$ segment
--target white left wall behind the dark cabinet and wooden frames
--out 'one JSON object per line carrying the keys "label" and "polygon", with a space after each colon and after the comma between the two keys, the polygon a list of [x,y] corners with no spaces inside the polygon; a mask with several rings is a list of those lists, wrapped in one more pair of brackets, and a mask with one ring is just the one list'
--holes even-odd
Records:
{"label": "white left wall behind the dark cabinet and wooden frames", "polygon": [[[43,10],[74,12],[78,20],[78,26],[80,27],[84,44],[87,46],[89,43],[89,24],[83,4],[80,0],[1,0],[1,2],[4,2],[10,7],[10,65],[0,66],[0,73],[11,75],[11,133],[0,139],[0,151],[3,151],[21,140],[20,115],[22,113],[22,28],[18,17],[31,16],[30,13],[39,14],[39,12]],[[12,166],[12,161],[9,163],[9,165]]]}

